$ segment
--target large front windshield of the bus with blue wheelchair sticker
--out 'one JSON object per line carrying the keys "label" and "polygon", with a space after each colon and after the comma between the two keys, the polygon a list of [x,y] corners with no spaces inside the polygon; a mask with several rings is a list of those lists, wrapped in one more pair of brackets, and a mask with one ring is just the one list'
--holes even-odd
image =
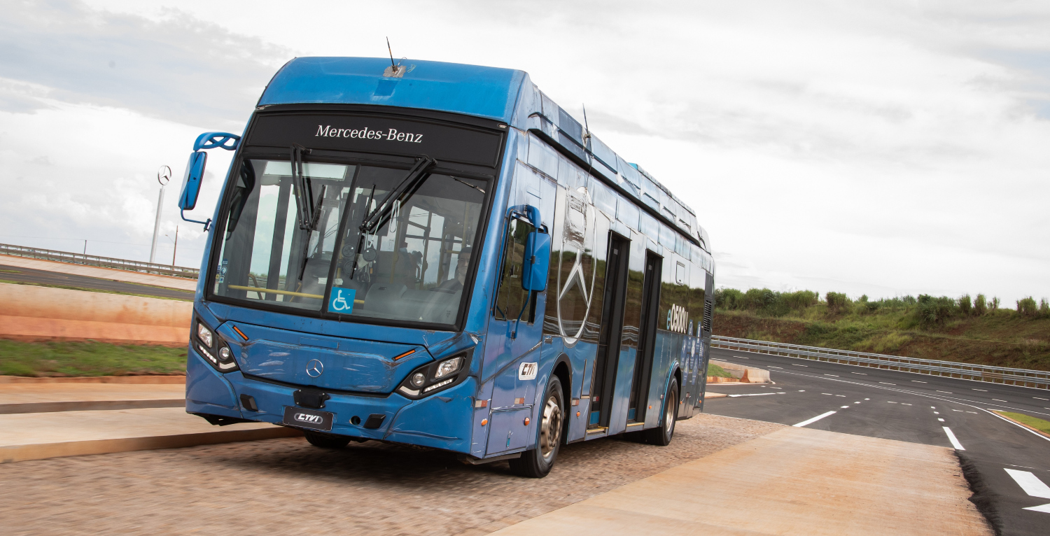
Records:
{"label": "large front windshield of the bus with blue wheelchair sticker", "polygon": [[371,319],[456,322],[488,181],[430,174],[362,237],[361,222],[406,169],[304,163],[317,207],[312,229],[300,224],[291,171],[288,160],[242,164],[213,266],[216,296]]}

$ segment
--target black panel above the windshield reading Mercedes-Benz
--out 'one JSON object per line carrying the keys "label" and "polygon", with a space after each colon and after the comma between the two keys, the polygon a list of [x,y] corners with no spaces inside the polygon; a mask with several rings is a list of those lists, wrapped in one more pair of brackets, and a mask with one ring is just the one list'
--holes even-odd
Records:
{"label": "black panel above the windshield reading Mercedes-Benz", "polygon": [[374,152],[496,167],[501,134],[438,123],[374,115],[259,115],[248,143],[271,147]]}

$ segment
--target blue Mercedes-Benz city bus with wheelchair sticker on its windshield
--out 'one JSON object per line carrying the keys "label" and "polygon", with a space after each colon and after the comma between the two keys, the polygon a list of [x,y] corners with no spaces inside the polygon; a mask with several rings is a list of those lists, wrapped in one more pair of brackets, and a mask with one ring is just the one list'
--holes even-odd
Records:
{"label": "blue Mercedes-Benz city bus with wheelchair sticker on its windshield", "polygon": [[[232,164],[188,219],[209,149]],[[542,477],[702,409],[707,233],[524,71],[294,59],[242,135],[196,140],[178,206],[208,231],[186,410],[211,424]]]}

